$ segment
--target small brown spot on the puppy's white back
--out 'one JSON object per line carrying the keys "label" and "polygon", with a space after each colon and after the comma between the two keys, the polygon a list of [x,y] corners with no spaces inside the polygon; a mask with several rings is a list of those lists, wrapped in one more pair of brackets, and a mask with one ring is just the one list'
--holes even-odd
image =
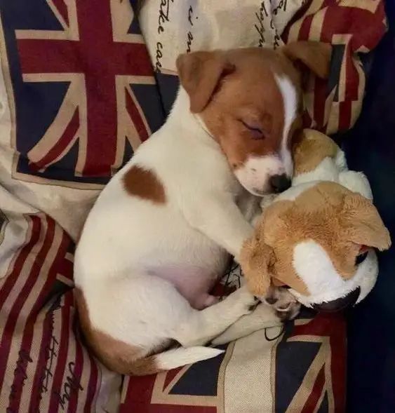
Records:
{"label": "small brown spot on the puppy's white back", "polygon": [[154,203],[166,203],[163,185],[152,170],[133,165],[123,176],[123,184],[130,195],[138,196]]}

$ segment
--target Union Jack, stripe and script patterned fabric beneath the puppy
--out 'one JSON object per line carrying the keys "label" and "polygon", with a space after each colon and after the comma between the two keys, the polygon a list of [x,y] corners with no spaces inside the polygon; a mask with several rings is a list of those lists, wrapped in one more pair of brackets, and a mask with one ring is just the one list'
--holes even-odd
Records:
{"label": "Union Jack, stripe and script patterned fabric beneath the puppy", "polygon": [[[332,77],[312,79],[305,121],[349,128],[363,95],[358,53],[385,30],[382,1],[140,3],[139,22],[134,1],[0,0],[0,410],[342,412],[341,316],[304,313],[173,372],[109,372],[79,330],[73,251],[102,186],[166,119],[177,53],[330,41]],[[231,269],[219,288],[239,276]]]}

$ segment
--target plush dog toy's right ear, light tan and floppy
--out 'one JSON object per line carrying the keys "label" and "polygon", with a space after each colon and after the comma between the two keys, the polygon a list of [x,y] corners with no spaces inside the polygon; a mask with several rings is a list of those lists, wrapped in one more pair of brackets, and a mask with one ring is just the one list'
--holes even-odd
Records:
{"label": "plush dog toy's right ear, light tan and floppy", "polygon": [[388,250],[391,237],[372,201],[352,192],[344,199],[342,225],[348,240],[359,245]]}

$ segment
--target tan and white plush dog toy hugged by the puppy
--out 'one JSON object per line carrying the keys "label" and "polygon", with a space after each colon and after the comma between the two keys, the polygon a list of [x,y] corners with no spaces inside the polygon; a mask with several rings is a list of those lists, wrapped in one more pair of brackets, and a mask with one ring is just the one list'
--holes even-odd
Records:
{"label": "tan and white plush dog toy hugged by the puppy", "polygon": [[337,311],[372,290],[389,231],[365,175],[347,169],[328,136],[304,130],[293,155],[293,185],[265,206],[241,267],[258,297],[284,286],[305,306]]}

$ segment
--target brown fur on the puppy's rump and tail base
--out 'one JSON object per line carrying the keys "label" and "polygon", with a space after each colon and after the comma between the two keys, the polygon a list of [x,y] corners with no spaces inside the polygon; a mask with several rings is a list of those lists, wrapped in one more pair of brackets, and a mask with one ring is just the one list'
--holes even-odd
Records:
{"label": "brown fur on the puppy's rump and tail base", "polygon": [[85,297],[78,288],[74,289],[74,299],[88,346],[103,365],[114,372],[136,376],[159,372],[155,356],[146,357],[147,352],[142,348],[114,339],[91,325]]}

